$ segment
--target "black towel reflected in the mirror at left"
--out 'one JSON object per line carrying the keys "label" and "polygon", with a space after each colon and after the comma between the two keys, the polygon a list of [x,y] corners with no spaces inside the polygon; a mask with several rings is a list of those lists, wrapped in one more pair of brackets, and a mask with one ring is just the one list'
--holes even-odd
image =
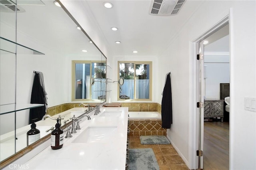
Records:
{"label": "black towel reflected in the mirror at left", "polygon": [[[44,104],[44,90],[40,85],[38,73],[35,73],[30,103]],[[30,109],[29,124],[42,120],[42,117],[44,115],[45,115],[45,106]]]}

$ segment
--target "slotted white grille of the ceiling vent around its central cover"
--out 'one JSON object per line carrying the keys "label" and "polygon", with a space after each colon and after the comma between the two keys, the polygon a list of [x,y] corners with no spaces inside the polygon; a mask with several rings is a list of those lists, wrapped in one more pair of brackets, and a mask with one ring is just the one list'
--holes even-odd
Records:
{"label": "slotted white grille of the ceiling vent around its central cover", "polygon": [[161,8],[162,8],[162,4],[164,4],[166,1],[168,1],[168,0],[152,0],[151,4],[150,4],[149,14],[156,15],[156,16],[176,15],[180,11],[180,8],[182,7],[182,5],[184,4],[184,2],[186,0],[174,0],[176,2],[176,5],[175,5],[174,9],[170,13],[165,13],[164,14],[160,11],[161,11]]}

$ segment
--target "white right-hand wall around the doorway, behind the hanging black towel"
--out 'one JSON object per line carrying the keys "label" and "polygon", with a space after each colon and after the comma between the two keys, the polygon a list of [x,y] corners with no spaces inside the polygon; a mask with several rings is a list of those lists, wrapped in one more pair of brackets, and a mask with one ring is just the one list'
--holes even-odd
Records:
{"label": "white right-hand wall around the doorway, behind the hanging black towel", "polygon": [[[164,85],[164,73],[170,68],[172,71],[173,124],[167,133],[189,168],[196,168],[192,158],[196,148],[193,141],[188,142],[188,136],[194,133],[190,128],[194,127],[196,115],[190,108],[195,91],[190,88],[190,75],[195,74],[190,73],[195,57],[191,56],[190,42],[227,16],[230,8],[230,169],[256,169],[256,114],[244,110],[244,97],[256,96],[255,1],[205,1],[160,56],[159,87]],[[158,89],[160,94],[162,88]],[[157,102],[161,103],[161,95]]]}

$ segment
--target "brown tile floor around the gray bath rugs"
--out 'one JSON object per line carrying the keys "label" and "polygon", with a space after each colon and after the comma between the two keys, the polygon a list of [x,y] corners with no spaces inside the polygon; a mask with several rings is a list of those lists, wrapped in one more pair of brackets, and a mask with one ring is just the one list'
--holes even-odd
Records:
{"label": "brown tile floor around the gray bath rugs", "polygon": [[160,170],[189,170],[172,144],[140,144],[140,137],[129,137],[130,148],[152,148]]}

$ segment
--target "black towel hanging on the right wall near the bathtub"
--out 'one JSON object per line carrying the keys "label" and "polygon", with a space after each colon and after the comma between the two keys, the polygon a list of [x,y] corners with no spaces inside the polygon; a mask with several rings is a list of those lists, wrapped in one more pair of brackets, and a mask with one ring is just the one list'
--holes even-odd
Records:
{"label": "black towel hanging on the right wall near the bathtub", "polygon": [[172,87],[168,73],[162,98],[162,128],[170,128],[172,124]]}

